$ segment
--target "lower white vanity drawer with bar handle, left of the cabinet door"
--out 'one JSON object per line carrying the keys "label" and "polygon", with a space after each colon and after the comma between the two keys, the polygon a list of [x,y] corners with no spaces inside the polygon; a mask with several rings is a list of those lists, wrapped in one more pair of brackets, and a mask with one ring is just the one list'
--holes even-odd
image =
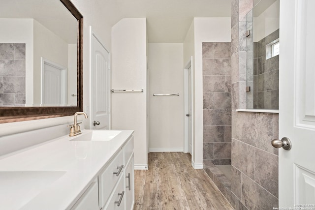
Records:
{"label": "lower white vanity drawer with bar handle, left of the cabinet door", "polygon": [[124,178],[121,178],[111,194],[110,200],[102,210],[125,210],[125,197],[126,188],[124,187]]}

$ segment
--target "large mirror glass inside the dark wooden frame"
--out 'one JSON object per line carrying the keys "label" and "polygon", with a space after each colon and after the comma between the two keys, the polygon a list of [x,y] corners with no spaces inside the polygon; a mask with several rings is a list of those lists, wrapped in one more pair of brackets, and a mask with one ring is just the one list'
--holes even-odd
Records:
{"label": "large mirror glass inside the dark wooden frame", "polygon": [[60,0],[0,6],[0,107],[77,107],[78,20]]}

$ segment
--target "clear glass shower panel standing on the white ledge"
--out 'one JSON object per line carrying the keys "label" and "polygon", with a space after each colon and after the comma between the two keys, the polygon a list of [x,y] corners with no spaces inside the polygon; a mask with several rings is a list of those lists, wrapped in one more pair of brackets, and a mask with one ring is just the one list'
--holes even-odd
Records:
{"label": "clear glass shower panel standing on the white ledge", "polygon": [[247,14],[247,108],[279,109],[279,0],[254,0]]}

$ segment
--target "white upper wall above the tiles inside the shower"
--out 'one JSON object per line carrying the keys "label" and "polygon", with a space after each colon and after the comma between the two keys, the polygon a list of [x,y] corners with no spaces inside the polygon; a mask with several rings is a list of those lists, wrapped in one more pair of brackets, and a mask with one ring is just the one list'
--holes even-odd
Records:
{"label": "white upper wall above the tiles inside the shower", "polygon": [[279,29],[280,1],[276,0],[258,17],[253,18],[253,41],[258,42]]}

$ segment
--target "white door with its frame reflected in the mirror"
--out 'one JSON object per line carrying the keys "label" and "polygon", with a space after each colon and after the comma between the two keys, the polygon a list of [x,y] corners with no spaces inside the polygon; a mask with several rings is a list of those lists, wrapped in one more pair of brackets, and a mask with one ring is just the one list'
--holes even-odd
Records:
{"label": "white door with its frame reflected in the mirror", "polygon": [[42,58],[41,104],[64,106],[66,104],[66,67]]}

